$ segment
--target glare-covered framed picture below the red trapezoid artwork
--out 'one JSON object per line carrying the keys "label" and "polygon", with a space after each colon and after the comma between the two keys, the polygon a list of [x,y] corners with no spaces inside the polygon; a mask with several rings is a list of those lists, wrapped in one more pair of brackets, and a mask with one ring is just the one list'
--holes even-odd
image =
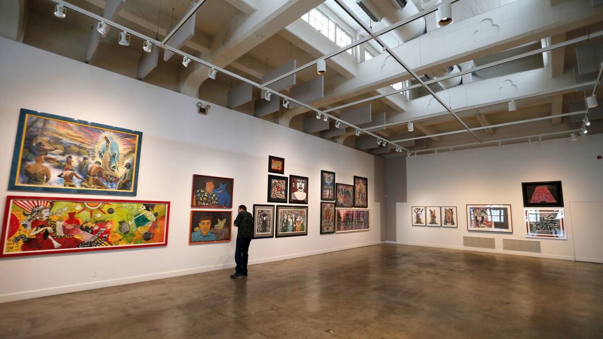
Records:
{"label": "glare-covered framed picture below the red trapezoid artwork", "polygon": [[563,209],[525,209],[528,238],[567,239]]}

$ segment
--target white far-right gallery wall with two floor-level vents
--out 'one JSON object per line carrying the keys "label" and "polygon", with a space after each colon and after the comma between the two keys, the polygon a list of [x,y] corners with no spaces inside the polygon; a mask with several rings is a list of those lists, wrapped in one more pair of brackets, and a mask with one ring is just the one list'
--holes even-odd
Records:
{"label": "white far-right gallery wall with two floor-level vents", "polygon": [[[397,242],[450,249],[463,247],[463,236],[495,238],[496,250],[519,255],[531,253],[502,250],[502,239],[540,241],[534,256],[575,259],[574,248],[593,249],[578,260],[603,262],[603,220],[571,206],[598,203],[603,207],[603,135],[570,141],[569,136],[531,144],[503,145],[453,153],[426,154],[406,159],[408,200],[396,205]],[[526,238],[522,182],[561,180],[567,240]],[[511,204],[513,233],[467,230],[467,204]],[[596,204],[595,204],[596,205]],[[456,206],[457,228],[412,226],[411,206]],[[576,221],[573,223],[572,221]],[[579,234],[578,238],[574,234]],[[596,253],[593,253],[596,252]]]}

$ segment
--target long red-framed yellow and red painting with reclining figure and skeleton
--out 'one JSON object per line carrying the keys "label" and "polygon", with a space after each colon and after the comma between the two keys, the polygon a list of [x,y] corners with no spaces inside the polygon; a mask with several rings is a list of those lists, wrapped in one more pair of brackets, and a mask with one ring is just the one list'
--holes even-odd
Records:
{"label": "long red-framed yellow and red painting with reclining figure and skeleton", "polygon": [[9,195],[0,256],[166,246],[168,221],[169,201]]}

